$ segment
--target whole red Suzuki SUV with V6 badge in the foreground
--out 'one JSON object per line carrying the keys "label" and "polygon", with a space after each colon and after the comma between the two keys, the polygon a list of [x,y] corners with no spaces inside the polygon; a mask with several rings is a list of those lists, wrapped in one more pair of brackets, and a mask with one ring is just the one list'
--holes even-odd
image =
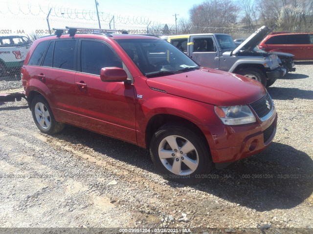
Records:
{"label": "whole red Suzuki SUV with V6 badge in the foreground", "polygon": [[178,181],[254,155],[276,132],[261,83],[200,67],[154,36],[70,31],[37,39],[22,82],[43,133],[70,124],[148,148]]}

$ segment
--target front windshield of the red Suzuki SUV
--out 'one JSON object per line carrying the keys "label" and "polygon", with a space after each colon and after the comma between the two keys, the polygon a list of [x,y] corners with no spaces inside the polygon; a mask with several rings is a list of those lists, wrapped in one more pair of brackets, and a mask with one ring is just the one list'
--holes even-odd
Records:
{"label": "front windshield of the red Suzuki SUV", "polygon": [[118,39],[116,41],[146,77],[165,76],[200,68],[165,40]]}

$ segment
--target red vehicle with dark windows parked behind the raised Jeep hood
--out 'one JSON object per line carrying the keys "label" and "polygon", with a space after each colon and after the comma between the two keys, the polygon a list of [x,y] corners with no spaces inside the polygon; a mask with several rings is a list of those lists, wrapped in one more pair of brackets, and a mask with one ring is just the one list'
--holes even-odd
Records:
{"label": "red vehicle with dark windows parked behind the raised Jeep hood", "polygon": [[313,33],[274,32],[262,40],[259,48],[290,53],[294,60],[313,60]]}

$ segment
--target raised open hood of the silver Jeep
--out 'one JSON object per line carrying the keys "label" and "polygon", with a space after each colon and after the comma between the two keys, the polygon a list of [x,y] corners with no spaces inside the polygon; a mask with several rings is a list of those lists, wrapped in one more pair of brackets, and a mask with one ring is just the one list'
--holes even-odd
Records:
{"label": "raised open hood of the silver Jeep", "polygon": [[240,50],[251,51],[255,46],[257,46],[270,32],[271,30],[262,26],[258,30],[255,31],[250,37],[248,37],[243,43],[238,45],[238,47],[233,51],[233,54],[236,54]]}

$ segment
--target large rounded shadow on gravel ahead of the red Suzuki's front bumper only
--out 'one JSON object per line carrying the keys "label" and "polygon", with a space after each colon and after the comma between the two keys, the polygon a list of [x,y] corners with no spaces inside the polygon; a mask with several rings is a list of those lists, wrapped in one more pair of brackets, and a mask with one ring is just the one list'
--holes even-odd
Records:
{"label": "large rounded shadow on gravel ahead of the red Suzuki's front bumper only", "polygon": [[276,142],[215,174],[194,188],[260,212],[290,209],[313,193],[311,157]]}

